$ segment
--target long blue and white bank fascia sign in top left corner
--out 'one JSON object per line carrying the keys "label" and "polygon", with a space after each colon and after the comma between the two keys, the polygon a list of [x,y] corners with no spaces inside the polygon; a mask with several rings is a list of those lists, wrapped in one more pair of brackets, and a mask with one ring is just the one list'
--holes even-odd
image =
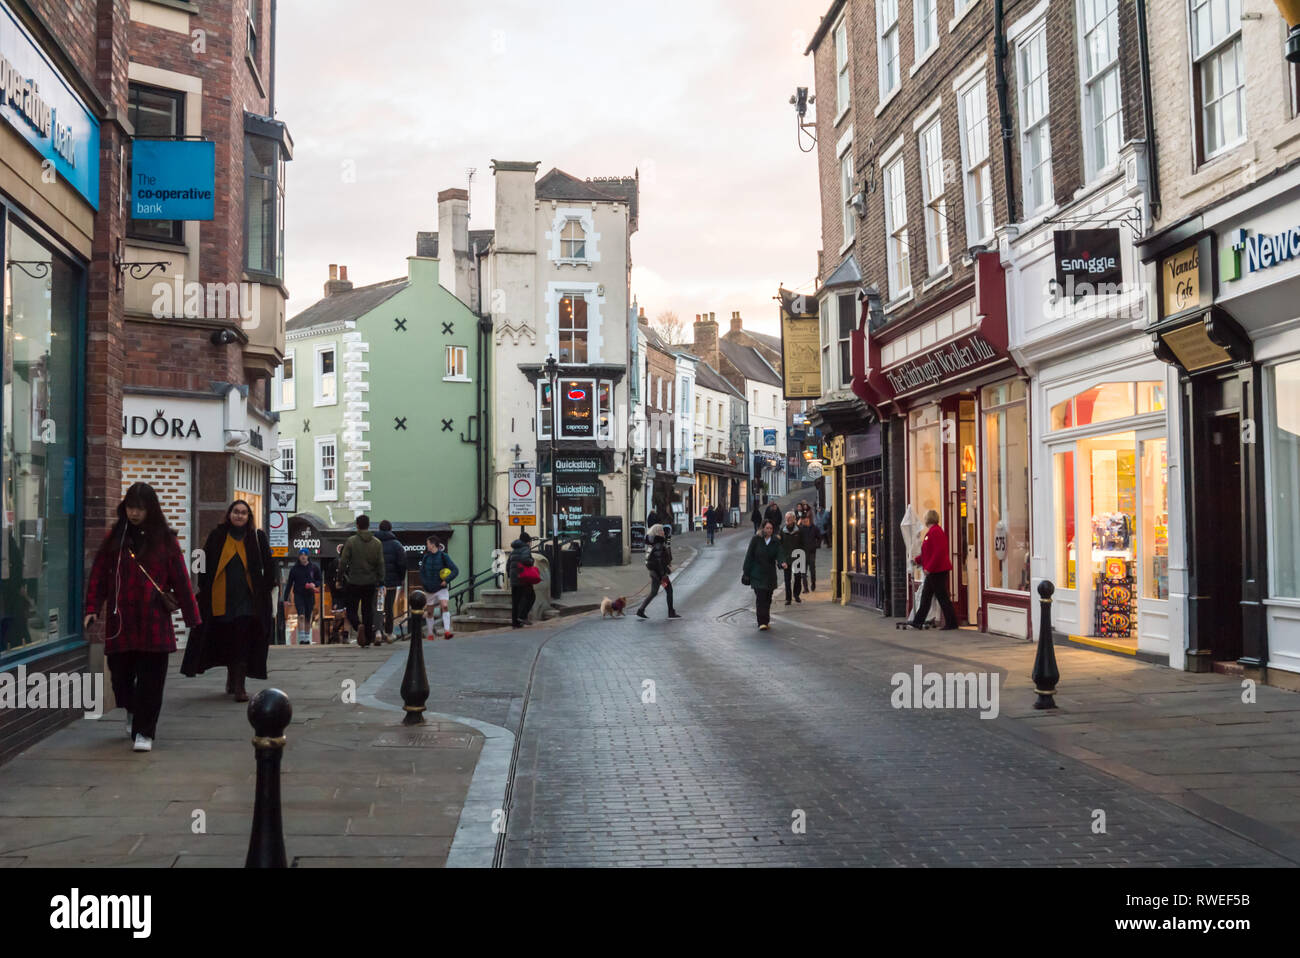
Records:
{"label": "long blue and white bank fascia sign in top left corner", "polygon": [[99,209],[99,120],[3,3],[0,116],[46,157],[43,173],[57,173]]}

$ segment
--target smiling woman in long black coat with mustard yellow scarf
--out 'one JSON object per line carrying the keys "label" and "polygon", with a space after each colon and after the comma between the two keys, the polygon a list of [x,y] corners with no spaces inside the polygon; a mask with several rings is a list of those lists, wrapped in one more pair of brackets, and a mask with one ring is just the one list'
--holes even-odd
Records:
{"label": "smiling woman in long black coat with mustard yellow scarf", "polygon": [[226,519],[203,545],[199,614],[203,624],[190,633],[181,673],[202,675],[225,666],[226,692],[247,702],[244,679],[266,677],[266,647],[274,632],[276,567],[266,533],[252,508],[235,499]]}

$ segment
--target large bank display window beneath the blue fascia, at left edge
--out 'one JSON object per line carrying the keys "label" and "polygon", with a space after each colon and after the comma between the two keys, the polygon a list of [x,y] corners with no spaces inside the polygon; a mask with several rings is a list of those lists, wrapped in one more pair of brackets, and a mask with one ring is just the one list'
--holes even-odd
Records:
{"label": "large bank display window beneath the blue fascia, at left edge", "polygon": [[[0,216],[4,216],[0,208]],[[73,591],[79,270],[12,218],[0,274],[0,655],[81,630]],[[99,545],[104,529],[91,534]]]}

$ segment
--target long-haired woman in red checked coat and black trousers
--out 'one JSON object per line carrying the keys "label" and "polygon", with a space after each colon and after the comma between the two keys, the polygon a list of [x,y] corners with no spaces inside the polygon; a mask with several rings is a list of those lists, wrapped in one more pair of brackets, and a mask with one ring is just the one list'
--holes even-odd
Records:
{"label": "long-haired woman in red checked coat and black trousers", "polygon": [[100,606],[108,606],[104,653],[135,751],[153,747],[168,656],[176,651],[172,612],[160,593],[181,603],[186,625],[199,624],[181,543],[168,528],[157,493],[136,482],[117,506],[117,523],[95,555],[84,621],[88,634]]}

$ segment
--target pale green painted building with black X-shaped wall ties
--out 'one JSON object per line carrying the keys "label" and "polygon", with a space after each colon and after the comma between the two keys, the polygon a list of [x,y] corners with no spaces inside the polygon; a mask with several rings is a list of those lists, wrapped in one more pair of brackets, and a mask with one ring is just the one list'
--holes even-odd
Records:
{"label": "pale green painted building with black X-shaped wall ties", "polygon": [[432,255],[408,257],[406,277],[370,286],[354,287],[347,266],[332,265],[325,296],[286,322],[272,480],[298,484],[290,555],[304,546],[328,564],[365,513],[372,528],[394,524],[412,572],[425,537],[441,534],[464,582],[471,569],[490,569],[500,546],[482,442],[488,333],[439,282],[439,270],[456,274],[452,287],[474,302],[465,269],[474,257],[447,250],[439,261],[437,234],[420,234],[417,252]]}

